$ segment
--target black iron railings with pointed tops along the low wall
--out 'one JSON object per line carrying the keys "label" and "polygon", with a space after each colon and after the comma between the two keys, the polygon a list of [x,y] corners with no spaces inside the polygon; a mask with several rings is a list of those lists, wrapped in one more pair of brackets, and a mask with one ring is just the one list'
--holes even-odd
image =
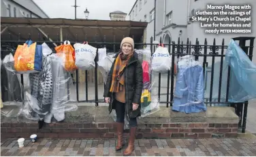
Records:
{"label": "black iron railings with pointed tops along the low wall", "polygon": [[[106,37],[104,37],[106,39]],[[142,37],[142,39],[144,39]],[[235,41],[239,41],[240,47],[246,52],[247,55],[249,55],[249,58],[252,60],[253,58],[253,42],[254,37],[238,37],[234,38]],[[86,40],[87,41],[87,40]],[[165,40],[166,41],[166,40]],[[60,45],[61,41],[35,41],[38,44],[47,43],[52,50],[54,50],[54,45],[52,43],[55,43],[57,45]],[[249,45],[246,45],[246,42],[249,42]],[[11,48],[16,49],[17,45],[23,44],[25,41],[14,41],[12,39],[10,40],[1,40],[1,58],[3,59],[5,51],[9,51]],[[74,43],[82,43],[77,41],[70,41],[70,43],[73,45]],[[162,43],[162,39],[160,39],[160,43]],[[97,38],[95,37],[95,41],[89,41],[89,44],[93,47],[102,48],[107,47],[108,51],[110,52],[116,52],[120,49],[120,41],[116,42],[115,40],[113,43],[106,43],[106,42],[97,42]],[[153,43],[153,37],[150,38],[150,43],[135,43],[135,48],[141,49],[144,47],[150,47],[151,52],[153,53],[158,47],[159,44]],[[206,71],[210,71],[210,80],[206,79],[205,77],[205,84],[206,89],[208,89],[208,96],[205,97],[205,104],[208,106],[215,106],[215,104],[221,104],[221,106],[232,106],[236,110],[236,114],[239,116],[239,128],[242,129],[242,132],[245,132],[246,129],[246,117],[247,117],[247,108],[248,108],[248,102],[239,103],[239,104],[232,104],[228,102],[228,95],[229,95],[229,76],[230,76],[230,68],[227,70],[227,78],[223,78],[223,63],[225,58],[225,51],[227,49],[227,45],[225,45],[225,41],[223,39],[221,45],[216,45],[216,41],[212,42],[212,44],[208,44],[208,41],[205,39],[204,44],[199,44],[199,41],[196,40],[195,44],[192,44],[189,39],[187,39],[186,43],[183,43],[178,39],[178,42],[171,41],[169,38],[168,42],[164,44],[165,47],[168,48],[168,51],[170,52],[170,55],[172,55],[172,69],[167,72],[167,74],[161,74],[159,73],[158,76],[158,98],[160,100],[161,104],[166,104],[166,107],[172,106],[172,100],[174,98],[174,85],[175,85],[175,65],[178,58],[182,55],[193,55],[195,57],[195,60],[198,60],[199,62],[202,62],[202,66],[204,68],[204,76],[206,76]],[[101,96],[101,99],[99,99],[99,91],[98,91],[98,67],[97,67],[97,61],[98,56],[96,55],[95,58],[95,70],[94,70],[94,88],[95,88],[95,98],[89,99],[89,73],[86,70],[85,71],[85,95],[82,97],[85,97],[85,99],[80,99],[79,95],[79,89],[81,88],[78,81],[78,75],[79,72],[76,70],[76,99],[78,102],[91,102],[95,103],[96,106],[99,105],[99,103],[103,103],[103,95]],[[219,62],[220,66],[219,69],[214,69],[215,64]],[[217,72],[217,73],[216,73]],[[218,75],[218,85],[214,85],[214,76]],[[162,78],[165,77],[165,81],[161,82]],[[216,78],[215,78],[216,79]],[[227,79],[227,85],[225,85],[225,99],[222,97],[222,89],[223,89],[223,79]],[[21,76],[21,80],[23,83],[23,78]],[[209,83],[210,81],[210,83]],[[166,83],[166,84],[165,84]],[[91,84],[90,84],[91,85]],[[166,89],[163,91],[163,88]],[[210,87],[209,87],[210,86]],[[217,94],[214,93],[214,88],[218,87]],[[216,88],[215,88],[216,89]],[[102,89],[101,89],[102,90]],[[207,93],[206,92],[206,93]],[[213,95],[218,95],[217,97],[213,97]],[[163,99],[165,97],[165,99]]]}

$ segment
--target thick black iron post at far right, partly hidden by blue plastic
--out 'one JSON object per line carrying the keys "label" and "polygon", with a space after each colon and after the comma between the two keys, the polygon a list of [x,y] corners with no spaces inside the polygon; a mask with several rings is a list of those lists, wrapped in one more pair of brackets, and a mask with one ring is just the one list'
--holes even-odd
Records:
{"label": "thick black iron post at far right, partly hidden by blue plastic", "polygon": [[[253,59],[253,42],[255,37],[236,37],[233,38],[234,41],[239,41],[239,46],[242,50],[249,55],[250,60]],[[250,41],[250,46],[246,47],[246,41]],[[249,49],[249,54],[248,54]],[[242,108],[244,107],[244,114],[242,115]],[[242,125],[242,133],[245,133],[246,129],[246,120],[247,120],[247,110],[248,110],[248,101],[243,103],[236,104],[236,114],[239,116],[239,126]]]}

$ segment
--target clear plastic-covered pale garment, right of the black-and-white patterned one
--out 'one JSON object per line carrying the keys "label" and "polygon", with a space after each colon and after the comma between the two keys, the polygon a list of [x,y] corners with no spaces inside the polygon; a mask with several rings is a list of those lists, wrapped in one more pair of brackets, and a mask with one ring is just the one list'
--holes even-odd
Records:
{"label": "clear plastic-covered pale garment, right of the black-and-white patterned one", "polygon": [[65,119],[65,112],[76,111],[78,103],[71,74],[61,66],[62,59],[57,55],[50,55],[52,66],[53,99],[50,114],[46,115],[45,122],[54,117],[57,121]]}

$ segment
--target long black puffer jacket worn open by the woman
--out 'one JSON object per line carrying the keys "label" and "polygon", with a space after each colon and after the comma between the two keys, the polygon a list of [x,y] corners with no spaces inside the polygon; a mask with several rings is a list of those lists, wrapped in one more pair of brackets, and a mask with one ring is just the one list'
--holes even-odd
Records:
{"label": "long black puffer jacket worn open by the woman", "polygon": [[[120,53],[120,52],[119,52]],[[118,56],[116,54],[115,58]],[[114,60],[110,72],[108,74],[108,80],[104,90],[103,97],[110,97],[110,105],[108,110],[111,113],[112,109],[115,109],[115,96],[114,93],[110,92],[110,87],[112,83],[112,73],[114,68]],[[142,95],[143,88],[143,72],[142,72],[142,63],[138,60],[138,54],[133,53],[133,56],[129,59],[127,67],[125,67],[123,74],[125,75],[125,114],[128,118],[135,118],[141,116],[140,108],[141,102],[140,97]],[[139,104],[137,110],[132,109],[132,104]]]}

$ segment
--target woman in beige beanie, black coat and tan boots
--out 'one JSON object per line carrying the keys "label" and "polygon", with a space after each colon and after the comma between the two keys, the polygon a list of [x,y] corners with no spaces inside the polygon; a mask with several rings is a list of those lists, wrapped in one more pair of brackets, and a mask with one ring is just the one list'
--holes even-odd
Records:
{"label": "woman in beige beanie, black coat and tan boots", "polygon": [[116,54],[106,83],[104,97],[108,110],[116,110],[116,150],[123,148],[124,118],[129,118],[130,137],[124,156],[134,150],[137,117],[140,116],[140,97],[142,95],[142,63],[134,52],[134,41],[126,37],[121,42],[121,51]]}

